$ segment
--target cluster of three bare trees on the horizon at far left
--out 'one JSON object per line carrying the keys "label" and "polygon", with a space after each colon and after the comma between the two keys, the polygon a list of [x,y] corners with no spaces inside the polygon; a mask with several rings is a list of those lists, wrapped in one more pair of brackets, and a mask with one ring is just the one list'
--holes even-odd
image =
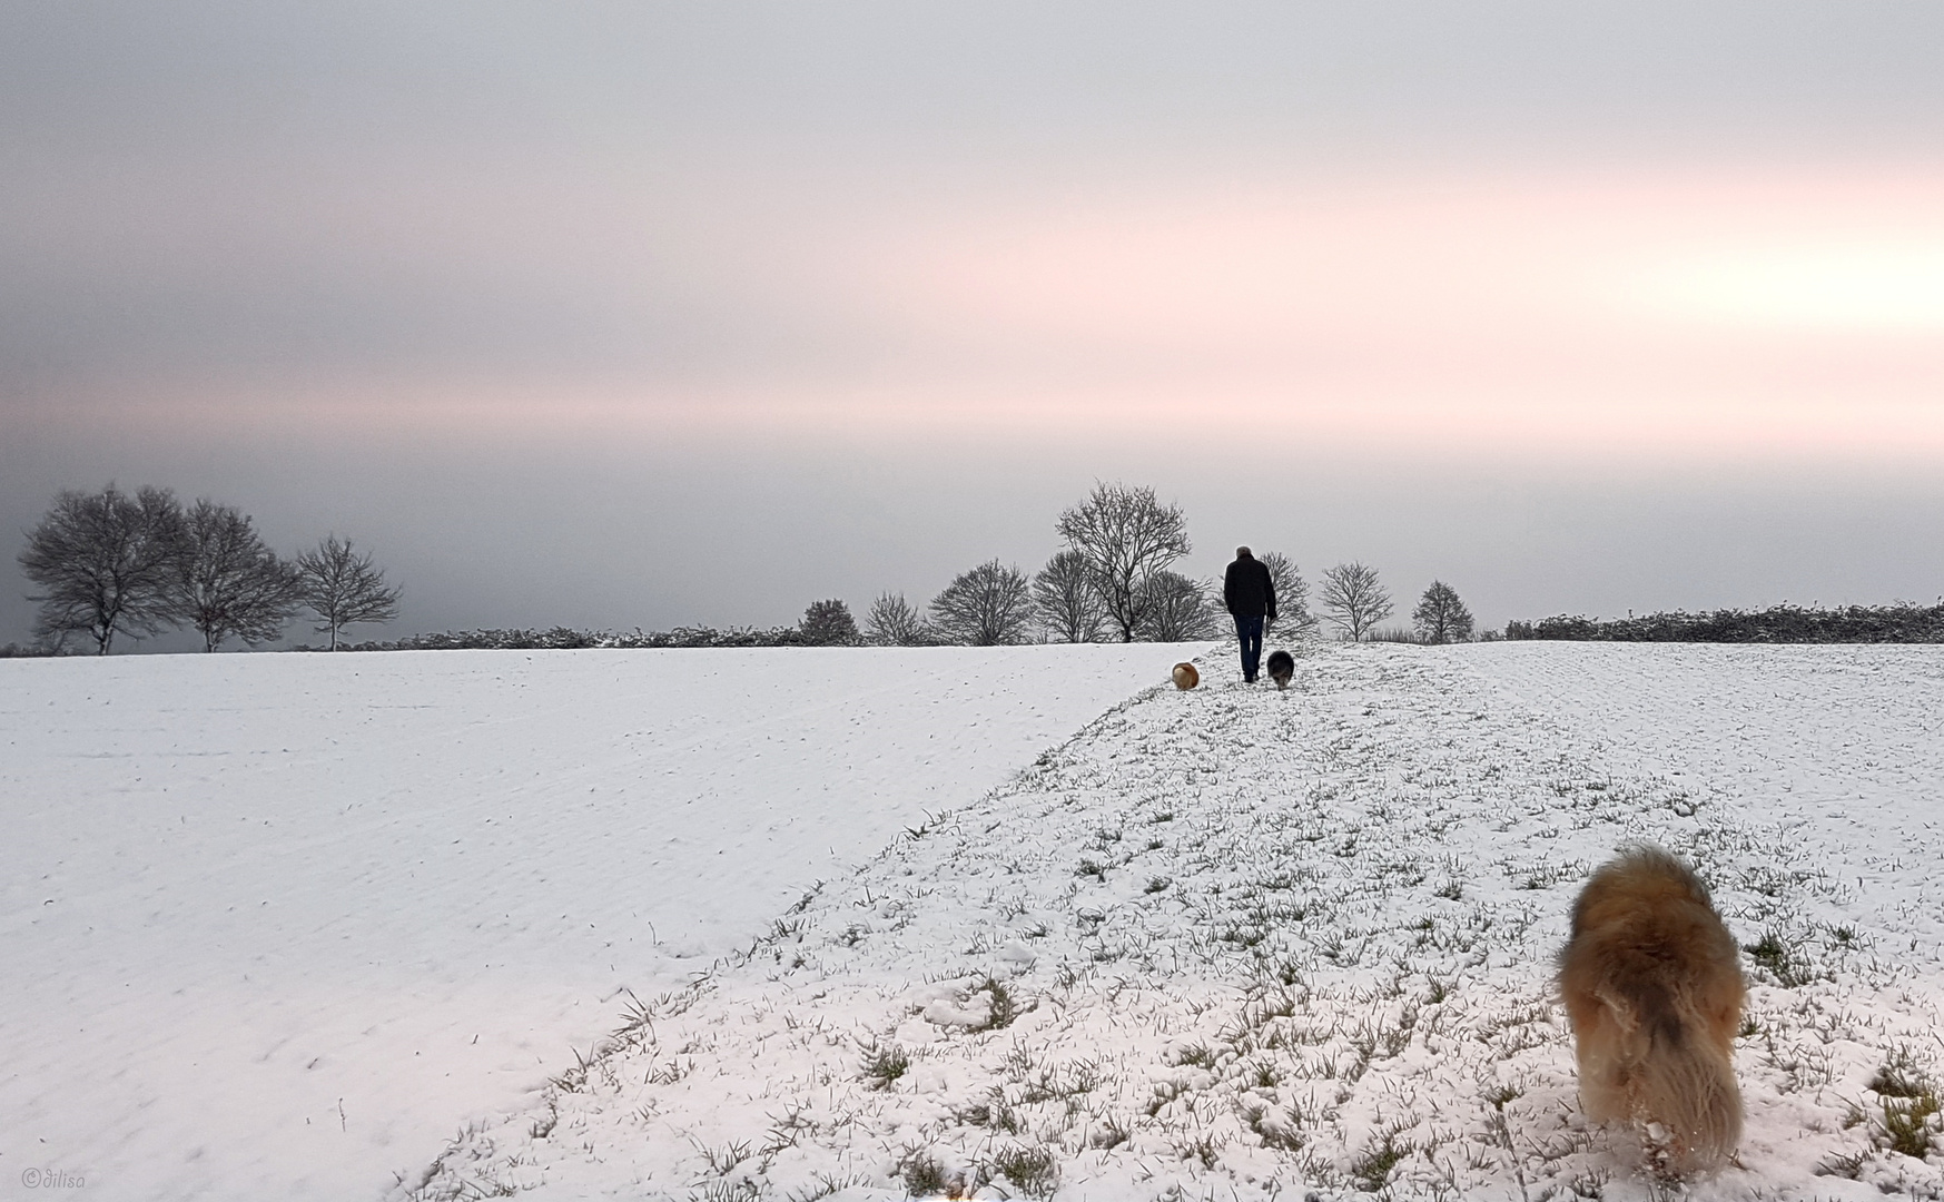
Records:
{"label": "cluster of three bare trees on the horizon at far left", "polygon": [[350,539],[327,535],[286,560],[235,506],[183,506],[167,488],[62,492],[27,531],[19,566],[39,589],[27,595],[35,640],[52,652],[82,638],[107,655],[117,636],[169,626],[194,628],[204,652],[229,638],[257,646],[305,609],[336,650],[346,626],[399,617],[399,589]]}

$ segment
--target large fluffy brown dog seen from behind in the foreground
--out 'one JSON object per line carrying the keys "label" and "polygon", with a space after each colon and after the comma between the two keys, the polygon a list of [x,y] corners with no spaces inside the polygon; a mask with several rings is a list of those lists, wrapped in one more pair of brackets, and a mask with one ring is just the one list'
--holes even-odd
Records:
{"label": "large fluffy brown dog seen from behind in the foreground", "polygon": [[1586,1116],[1637,1124],[1662,1177],[1709,1173],[1742,1138],[1742,965],[1691,867],[1637,844],[1573,902],[1559,988]]}

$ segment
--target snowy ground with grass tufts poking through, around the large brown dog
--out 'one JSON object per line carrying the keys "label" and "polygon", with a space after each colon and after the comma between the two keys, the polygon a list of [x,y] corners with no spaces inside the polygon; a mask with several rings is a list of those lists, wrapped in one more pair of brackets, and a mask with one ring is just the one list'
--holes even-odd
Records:
{"label": "snowy ground with grass tufts poking through, around the large brown dog", "polygon": [[1631,838],[1746,947],[1738,1163],[1944,1196],[1944,648],[1330,648],[1151,689],[399,1194],[1645,1198],[1551,957]]}

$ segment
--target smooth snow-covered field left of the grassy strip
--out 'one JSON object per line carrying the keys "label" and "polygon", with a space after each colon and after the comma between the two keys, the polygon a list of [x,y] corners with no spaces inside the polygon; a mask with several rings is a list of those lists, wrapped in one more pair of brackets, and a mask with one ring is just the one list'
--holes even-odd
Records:
{"label": "smooth snow-covered field left of the grassy strip", "polygon": [[0,1198],[377,1198],[1188,650],[0,659]]}

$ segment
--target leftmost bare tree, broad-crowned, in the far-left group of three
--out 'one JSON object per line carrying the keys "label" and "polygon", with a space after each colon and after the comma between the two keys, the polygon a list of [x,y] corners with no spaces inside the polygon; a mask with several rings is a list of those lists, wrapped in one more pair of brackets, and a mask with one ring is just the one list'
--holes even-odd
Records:
{"label": "leftmost bare tree, broad-crowned, in the far-left group of three", "polygon": [[60,644],[87,634],[107,655],[117,634],[142,638],[175,620],[171,585],[183,545],[183,508],[167,488],[134,496],[62,492],[27,531],[21,572],[41,585],[35,638]]}

